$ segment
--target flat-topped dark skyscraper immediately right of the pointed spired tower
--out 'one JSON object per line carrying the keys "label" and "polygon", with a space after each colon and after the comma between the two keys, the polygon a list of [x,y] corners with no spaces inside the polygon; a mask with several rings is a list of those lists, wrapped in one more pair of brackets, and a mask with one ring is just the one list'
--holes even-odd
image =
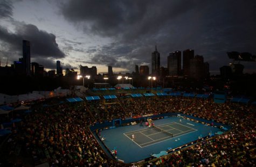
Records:
{"label": "flat-topped dark skyscraper immediately right of the pointed spired tower", "polygon": [[169,75],[181,74],[181,51],[170,52],[167,57]]}

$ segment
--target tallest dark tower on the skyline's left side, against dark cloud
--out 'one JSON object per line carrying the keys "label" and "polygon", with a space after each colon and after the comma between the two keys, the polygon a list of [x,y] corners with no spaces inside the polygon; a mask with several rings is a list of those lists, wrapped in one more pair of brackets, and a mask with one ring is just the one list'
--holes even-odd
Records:
{"label": "tallest dark tower on the skyline's left side, against dark cloud", "polygon": [[30,41],[23,40],[23,63],[24,72],[30,75]]}

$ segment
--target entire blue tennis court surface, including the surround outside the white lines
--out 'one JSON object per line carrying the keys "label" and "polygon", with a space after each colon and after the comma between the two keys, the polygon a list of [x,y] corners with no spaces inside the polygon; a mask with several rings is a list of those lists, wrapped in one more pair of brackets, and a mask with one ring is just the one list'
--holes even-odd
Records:
{"label": "entire blue tennis court surface, including the surround outside the white lines", "polygon": [[124,163],[133,163],[220,131],[217,127],[177,117],[155,120],[154,124],[158,129],[147,127],[144,123],[103,129],[101,136],[104,136],[105,140],[102,142],[110,151],[117,150],[117,159]]}

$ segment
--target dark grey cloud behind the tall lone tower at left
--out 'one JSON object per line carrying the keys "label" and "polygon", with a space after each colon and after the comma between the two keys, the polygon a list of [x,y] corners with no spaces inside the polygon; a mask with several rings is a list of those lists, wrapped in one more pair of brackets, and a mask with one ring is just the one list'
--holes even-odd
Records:
{"label": "dark grey cloud behind the tall lone tower at left", "polygon": [[0,40],[5,42],[9,48],[22,53],[22,40],[29,40],[31,42],[31,57],[54,57],[56,59],[65,57],[58,47],[54,34],[39,30],[32,24],[16,21],[15,25],[15,33],[0,26]]}

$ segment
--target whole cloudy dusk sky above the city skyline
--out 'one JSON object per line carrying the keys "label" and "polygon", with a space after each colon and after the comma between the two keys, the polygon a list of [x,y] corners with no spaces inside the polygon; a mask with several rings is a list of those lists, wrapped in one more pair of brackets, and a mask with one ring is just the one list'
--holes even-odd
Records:
{"label": "whole cloudy dusk sky above the city skyline", "polygon": [[[31,62],[56,69],[96,66],[98,72],[151,68],[157,44],[161,66],[169,52],[194,49],[210,72],[232,60],[226,52],[256,55],[255,0],[0,0],[2,66],[22,57],[22,40],[31,42]],[[256,72],[256,63],[245,63]]]}

